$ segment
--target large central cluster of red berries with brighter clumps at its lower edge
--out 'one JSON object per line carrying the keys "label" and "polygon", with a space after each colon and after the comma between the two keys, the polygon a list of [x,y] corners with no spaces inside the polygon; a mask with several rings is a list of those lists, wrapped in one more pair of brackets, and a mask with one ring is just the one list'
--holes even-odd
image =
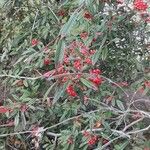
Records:
{"label": "large central cluster of red berries with brighter clumps at its lower edge", "polygon": [[[83,38],[83,36],[82,36]],[[84,37],[85,38],[85,37]],[[78,54],[80,53],[80,55]],[[74,84],[69,85],[67,87],[66,92],[70,96],[77,96],[73,85],[78,86],[80,82],[80,78],[83,76],[84,71],[89,72],[89,80],[95,84],[95,86],[99,86],[102,83],[102,78],[100,77],[101,71],[100,69],[91,69],[89,67],[93,67],[91,57],[95,54],[95,50],[90,50],[84,43],[80,41],[73,41],[68,49],[65,50],[65,57],[63,66],[66,68],[67,72],[74,73],[71,80]],[[68,77],[69,78],[69,77]],[[63,78],[63,81],[67,81],[67,77]]]}

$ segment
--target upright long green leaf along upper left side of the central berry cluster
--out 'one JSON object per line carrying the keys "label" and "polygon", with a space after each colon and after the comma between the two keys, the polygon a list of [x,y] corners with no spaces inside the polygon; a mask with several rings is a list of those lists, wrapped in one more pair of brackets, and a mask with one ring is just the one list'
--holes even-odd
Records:
{"label": "upright long green leaf along upper left side of the central berry cluster", "polygon": [[56,53],[55,53],[55,64],[61,64],[64,58],[64,51],[65,51],[65,41],[64,39],[59,40]]}

